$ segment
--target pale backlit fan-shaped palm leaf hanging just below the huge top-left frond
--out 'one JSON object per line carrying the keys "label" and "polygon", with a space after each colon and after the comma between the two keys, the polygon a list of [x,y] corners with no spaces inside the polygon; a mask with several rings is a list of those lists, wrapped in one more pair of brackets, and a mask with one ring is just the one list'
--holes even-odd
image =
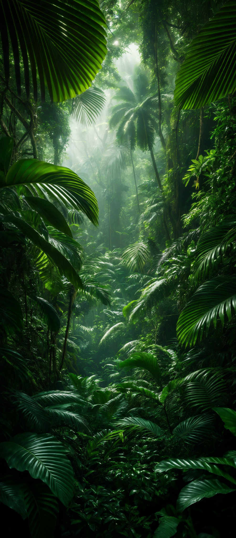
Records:
{"label": "pale backlit fan-shaped palm leaf hanging just below the huge top-left frond", "polygon": [[92,86],[74,98],[71,116],[83,127],[92,125],[101,114],[106,102],[104,91]]}

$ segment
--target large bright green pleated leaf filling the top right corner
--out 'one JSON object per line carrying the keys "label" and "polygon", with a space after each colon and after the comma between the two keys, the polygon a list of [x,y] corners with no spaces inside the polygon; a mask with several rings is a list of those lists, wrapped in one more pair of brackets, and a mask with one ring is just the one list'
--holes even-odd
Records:
{"label": "large bright green pleated leaf filling the top right corner", "polygon": [[175,81],[175,105],[200,108],[236,89],[236,5],[227,2],[189,46]]}

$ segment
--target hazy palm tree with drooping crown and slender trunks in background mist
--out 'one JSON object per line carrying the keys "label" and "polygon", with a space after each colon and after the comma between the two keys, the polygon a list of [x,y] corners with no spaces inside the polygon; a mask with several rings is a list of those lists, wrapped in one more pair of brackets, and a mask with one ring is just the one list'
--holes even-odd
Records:
{"label": "hazy palm tree with drooping crown and slender trunks in background mist", "polygon": [[138,190],[135,178],[132,151],[137,144],[140,150],[149,150],[152,158],[153,168],[160,190],[162,190],[161,180],[156,167],[153,153],[156,131],[158,124],[155,121],[156,96],[150,94],[147,76],[140,73],[134,80],[134,93],[127,86],[123,86],[115,95],[115,99],[120,101],[112,109],[110,127],[118,125],[117,139],[123,144],[127,140],[130,144],[131,162],[133,167],[135,189],[138,201]]}

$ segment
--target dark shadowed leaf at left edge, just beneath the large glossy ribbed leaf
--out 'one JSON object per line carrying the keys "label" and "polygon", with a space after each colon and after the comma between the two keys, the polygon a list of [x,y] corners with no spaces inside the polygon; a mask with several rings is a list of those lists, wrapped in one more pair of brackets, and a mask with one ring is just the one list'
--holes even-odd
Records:
{"label": "dark shadowed leaf at left edge, just beneath the large glossy ribbed leaf", "polygon": [[11,476],[5,476],[0,482],[0,502],[15,510],[23,519],[27,518],[23,489]]}

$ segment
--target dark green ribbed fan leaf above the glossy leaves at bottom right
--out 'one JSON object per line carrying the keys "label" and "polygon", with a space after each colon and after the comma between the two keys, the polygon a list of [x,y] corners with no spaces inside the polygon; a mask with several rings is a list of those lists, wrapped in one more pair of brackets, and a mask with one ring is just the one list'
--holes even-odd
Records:
{"label": "dark green ribbed fan leaf above the glossy leaves at bottom right", "polygon": [[190,416],[174,428],[173,435],[187,444],[199,443],[209,437],[211,424],[210,415]]}

